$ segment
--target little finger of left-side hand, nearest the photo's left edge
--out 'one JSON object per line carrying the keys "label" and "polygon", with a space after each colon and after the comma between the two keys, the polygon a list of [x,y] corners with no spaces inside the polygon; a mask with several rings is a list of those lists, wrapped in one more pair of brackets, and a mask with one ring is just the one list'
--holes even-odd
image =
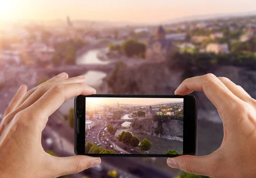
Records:
{"label": "little finger of left-side hand, nearest the photo's left edge", "polygon": [[3,114],[3,118],[9,114],[10,112],[12,112],[12,110],[14,110],[14,108],[16,107],[17,103],[20,101],[20,99],[24,96],[24,94],[26,93],[27,87],[26,85],[21,85],[20,88],[17,90],[17,93],[15,94],[15,96],[13,97],[13,99],[11,100],[11,102],[9,103],[9,105],[7,106],[5,113]]}

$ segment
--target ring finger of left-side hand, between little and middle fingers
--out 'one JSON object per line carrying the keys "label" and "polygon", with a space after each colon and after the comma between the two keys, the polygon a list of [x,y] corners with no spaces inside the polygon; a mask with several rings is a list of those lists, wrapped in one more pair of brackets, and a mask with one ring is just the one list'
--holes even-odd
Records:
{"label": "ring finger of left-side hand, between little and middle fingers", "polygon": [[35,87],[35,88],[29,90],[29,91],[22,97],[22,99],[20,99],[20,101],[19,101],[18,104],[16,105],[15,109],[16,109],[17,107],[19,107],[20,105],[22,105],[23,102],[25,102],[26,99],[28,99],[29,96],[31,96],[32,93],[34,93],[35,90],[37,90],[41,85],[45,85],[45,84],[48,84],[48,83],[56,82],[56,81],[59,81],[59,80],[64,80],[64,79],[67,79],[67,78],[68,78],[67,73],[63,72],[63,73],[58,74],[57,76],[52,77],[51,79],[47,80],[46,82],[44,82],[44,83],[38,85],[37,87]]}

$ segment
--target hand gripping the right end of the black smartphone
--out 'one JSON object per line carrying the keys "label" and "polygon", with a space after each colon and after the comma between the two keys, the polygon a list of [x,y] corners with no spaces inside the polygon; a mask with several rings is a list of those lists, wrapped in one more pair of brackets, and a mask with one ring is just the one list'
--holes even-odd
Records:
{"label": "hand gripping the right end of the black smartphone", "polygon": [[187,95],[192,91],[204,91],[217,108],[224,128],[222,144],[210,155],[181,155],[168,158],[167,164],[213,178],[255,178],[256,100],[229,79],[213,74],[185,79],[175,94]]}

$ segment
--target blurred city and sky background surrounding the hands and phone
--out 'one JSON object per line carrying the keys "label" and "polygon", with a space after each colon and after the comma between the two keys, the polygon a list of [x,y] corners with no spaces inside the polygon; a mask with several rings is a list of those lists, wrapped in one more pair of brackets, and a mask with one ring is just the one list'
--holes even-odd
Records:
{"label": "blurred city and sky background surrounding the hands and phone", "polygon": [[[0,120],[20,85],[61,72],[84,75],[97,93],[173,94],[188,77],[226,76],[256,98],[254,0],[0,0]],[[223,126],[198,97],[198,155],[216,150]],[[42,145],[73,152],[73,99],[49,117]],[[102,158],[66,178],[201,178],[166,158]]]}

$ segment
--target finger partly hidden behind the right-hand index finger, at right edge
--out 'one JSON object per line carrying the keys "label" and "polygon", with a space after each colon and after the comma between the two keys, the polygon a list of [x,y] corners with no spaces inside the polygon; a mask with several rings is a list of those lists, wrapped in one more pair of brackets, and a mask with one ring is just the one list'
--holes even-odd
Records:
{"label": "finger partly hidden behind the right-hand index finger, at right edge", "polygon": [[236,85],[230,79],[226,77],[218,77],[220,81],[237,97],[239,97],[244,102],[250,102],[252,97],[243,89],[241,86]]}

